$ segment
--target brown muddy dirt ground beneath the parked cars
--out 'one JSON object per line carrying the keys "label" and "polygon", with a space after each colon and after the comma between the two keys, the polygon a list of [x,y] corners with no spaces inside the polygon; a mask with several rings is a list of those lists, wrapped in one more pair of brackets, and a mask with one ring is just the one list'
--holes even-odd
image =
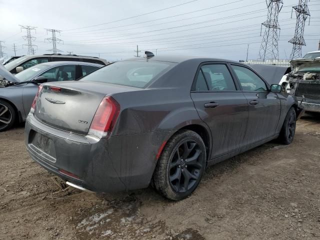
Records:
{"label": "brown muddy dirt ground beneath the parked cars", "polygon": [[[187,199],[152,188],[65,189],[28,156],[23,126],[0,133],[0,239],[320,239],[320,118],[209,167]],[[62,183],[62,184],[61,184]]]}

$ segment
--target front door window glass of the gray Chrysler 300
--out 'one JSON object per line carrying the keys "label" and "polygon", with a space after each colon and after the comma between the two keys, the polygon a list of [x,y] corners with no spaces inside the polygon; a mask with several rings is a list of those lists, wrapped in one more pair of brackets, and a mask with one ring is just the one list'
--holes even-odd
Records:
{"label": "front door window glass of the gray Chrysler 300", "polygon": [[231,65],[231,67],[239,79],[243,90],[267,91],[264,81],[253,71],[243,66]]}

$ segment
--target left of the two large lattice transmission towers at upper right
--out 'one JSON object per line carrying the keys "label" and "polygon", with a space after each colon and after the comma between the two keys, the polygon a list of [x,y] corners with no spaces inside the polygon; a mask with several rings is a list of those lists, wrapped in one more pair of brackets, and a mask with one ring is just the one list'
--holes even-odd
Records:
{"label": "left of the two large lattice transmission towers at upper right", "polygon": [[267,0],[266,5],[268,13],[266,21],[261,23],[261,33],[262,25],[265,26],[265,29],[259,51],[260,59],[263,61],[265,59],[277,59],[279,55],[278,39],[280,35],[280,25],[278,16],[283,5],[283,0]]}

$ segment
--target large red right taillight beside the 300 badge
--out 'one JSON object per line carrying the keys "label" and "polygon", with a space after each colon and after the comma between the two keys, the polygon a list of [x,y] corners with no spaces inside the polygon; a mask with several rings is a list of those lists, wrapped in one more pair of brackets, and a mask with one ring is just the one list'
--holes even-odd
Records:
{"label": "large red right taillight beside the 300 badge", "polygon": [[90,125],[89,134],[108,137],[120,112],[120,105],[111,96],[102,99]]}

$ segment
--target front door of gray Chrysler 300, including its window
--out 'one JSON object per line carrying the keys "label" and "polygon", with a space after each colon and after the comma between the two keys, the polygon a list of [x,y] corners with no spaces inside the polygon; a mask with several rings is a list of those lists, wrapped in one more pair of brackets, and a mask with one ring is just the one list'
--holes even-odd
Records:
{"label": "front door of gray Chrysler 300, including its window", "polygon": [[275,134],[281,111],[276,93],[249,67],[231,64],[249,105],[249,121],[244,141],[254,143]]}

